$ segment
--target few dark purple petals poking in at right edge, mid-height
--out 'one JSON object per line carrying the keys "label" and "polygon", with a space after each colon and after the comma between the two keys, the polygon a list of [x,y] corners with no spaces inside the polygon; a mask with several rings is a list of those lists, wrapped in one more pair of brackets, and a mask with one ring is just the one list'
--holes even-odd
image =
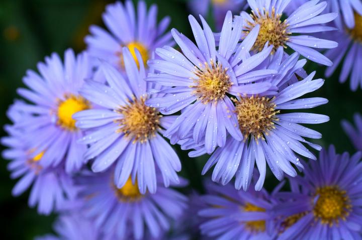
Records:
{"label": "few dark purple petals poking in at right edge, mid-height", "polygon": [[354,128],[348,121],[342,121],[342,128],[348,135],[351,143],[357,151],[362,151],[362,115],[360,113],[354,113],[353,115]]}

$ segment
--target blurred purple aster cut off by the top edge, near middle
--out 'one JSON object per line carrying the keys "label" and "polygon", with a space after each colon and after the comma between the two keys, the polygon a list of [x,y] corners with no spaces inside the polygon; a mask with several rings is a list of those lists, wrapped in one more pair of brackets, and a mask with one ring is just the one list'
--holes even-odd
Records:
{"label": "blurred purple aster cut off by the top edge, near middle", "polygon": [[215,19],[216,29],[221,30],[227,11],[238,13],[247,7],[246,0],[191,0],[189,8],[196,15],[207,16],[210,7]]}

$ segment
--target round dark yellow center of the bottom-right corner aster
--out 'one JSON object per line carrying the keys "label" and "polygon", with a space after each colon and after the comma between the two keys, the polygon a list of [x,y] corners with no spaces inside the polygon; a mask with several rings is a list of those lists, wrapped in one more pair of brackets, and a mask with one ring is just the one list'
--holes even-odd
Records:
{"label": "round dark yellow center of the bottom-right corner aster", "polygon": [[314,217],[323,224],[333,225],[339,219],[345,220],[351,209],[350,200],[346,191],[337,186],[325,186],[317,189],[317,202],[313,208]]}

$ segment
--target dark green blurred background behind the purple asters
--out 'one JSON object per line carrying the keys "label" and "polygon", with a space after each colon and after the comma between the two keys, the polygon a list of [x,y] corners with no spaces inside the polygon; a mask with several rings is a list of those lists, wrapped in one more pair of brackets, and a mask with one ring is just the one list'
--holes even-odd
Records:
{"label": "dark green blurred background behind the purple asters", "polygon": [[[102,25],[101,14],[107,2],[92,0],[1,0],[0,1],[0,126],[9,123],[6,110],[17,97],[16,88],[23,86],[22,77],[27,69],[35,69],[39,61],[51,52],[61,56],[65,49],[71,47],[76,52],[85,46],[83,38],[91,24]],[[191,29],[187,20],[189,10],[186,0],[146,1],[157,3],[159,18],[169,15],[171,27],[190,36]],[[208,18],[209,22],[212,18]],[[211,25],[213,25],[211,23]],[[307,71],[317,70],[317,77],[323,77],[325,68],[308,63]],[[340,128],[343,118],[351,119],[361,107],[361,91],[349,90],[348,83],[339,84],[337,73],[326,79],[324,86],[309,96],[329,99],[329,103],[311,109],[315,113],[330,116],[326,124],[310,126],[323,134],[318,144],[327,146],[335,144],[337,151],[352,153],[348,138]],[[4,136],[1,129],[1,135]],[[2,147],[3,149],[3,147]],[[183,161],[182,175],[190,179],[191,186],[200,189],[200,173],[205,162],[203,159],[190,159],[187,153],[179,156]],[[36,235],[51,232],[55,216],[40,216],[36,209],[27,206],[29,192],[18,198],[11,195],[16,180],[9,178],[7,161],[0,161],[0,228],[2,239],[32,239]],[[269,176],[266,187],[272,189],[276,181]]]}

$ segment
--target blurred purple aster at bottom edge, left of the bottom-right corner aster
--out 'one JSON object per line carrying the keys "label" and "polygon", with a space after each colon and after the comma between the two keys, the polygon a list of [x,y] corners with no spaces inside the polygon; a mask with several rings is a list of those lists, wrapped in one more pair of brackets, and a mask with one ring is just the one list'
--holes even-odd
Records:
{"label": "blurred purple aster at bottom edge, left of the bottom-right corner aster", "polygon": [[[204,223],[201,233],[213,239],[275,239],[275,222],[270,214],[277,200],[266,190],[237,191],[233,186],[209,184],[202,196],[206,206],[199,211]],[[279,190],[279,188],[277,188]]]}

